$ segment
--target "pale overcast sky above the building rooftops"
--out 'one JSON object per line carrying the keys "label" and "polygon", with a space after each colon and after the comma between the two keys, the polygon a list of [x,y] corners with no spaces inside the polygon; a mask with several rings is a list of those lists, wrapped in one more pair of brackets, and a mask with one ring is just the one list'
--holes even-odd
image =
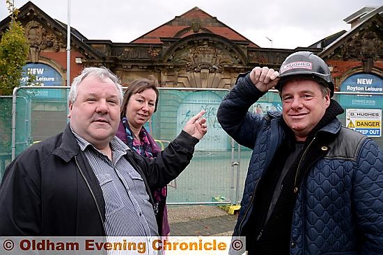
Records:
{"label": "pale overcast sky above the building rooftops", "polygon": [[[8,11],[6,0],[0,1],[2,20]],[[13,1],[16,8],[27,2]],[[50,17],[68,23],[68,0],[32,2]],[[345,17],[364,6],[382,4],[382,0],[71,0],[70,25],[89,40],[132,42],[198,7],[260,47],[295,49],[350,30]]]}

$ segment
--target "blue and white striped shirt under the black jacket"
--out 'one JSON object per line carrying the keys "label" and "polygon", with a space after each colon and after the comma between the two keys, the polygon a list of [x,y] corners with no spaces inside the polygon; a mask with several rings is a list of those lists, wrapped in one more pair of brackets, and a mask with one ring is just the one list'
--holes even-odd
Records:
{"label": "blue and white striped shirt under the black jacket", "polygon": [[123,157],[130,148],[114,137],[110,142],[110,161],[91,143],[72,132],[100,183],[105,200],[107,236],[158,236],[153,206],[143,179]]}

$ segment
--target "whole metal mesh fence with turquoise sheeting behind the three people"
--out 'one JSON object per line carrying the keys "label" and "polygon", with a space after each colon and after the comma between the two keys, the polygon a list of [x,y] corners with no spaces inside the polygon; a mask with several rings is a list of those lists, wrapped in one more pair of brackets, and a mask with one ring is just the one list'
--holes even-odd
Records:
{"label": "whole metal mesh fence with turquoise sheeting behind the three people", "polygon": [[[19,88],[15,97],[15,115],[12,115],[12,98],[0,98],[1,176],[12,154],[17,156],[34,142],[63,131],[68,123],[68,92],[66,87]],[[180,133],[187,120],[200,110],[206,110],[208,120],[208,133],[196,146],[192,162],[169,184],[169,203],[203,204],[219,198],[237,204],[241,200],[252,151],[238,147],[217,122],[217,108],[227,92],[160,88],[157,112],[146,124],[160,146],[166,147]],[[383,149],[383,94],[338,92],[334,99],[346,109],[343,115],[338,116],[343,125],[361,133],[372,130],[375,135],[369,136]],[[279,94],[270,91],[249,110],[265,114],[268,110],[281,109]],[[367,117],[359,120],[354,115]],[[368,115],[375,115],[375,119],[370,120]]]}

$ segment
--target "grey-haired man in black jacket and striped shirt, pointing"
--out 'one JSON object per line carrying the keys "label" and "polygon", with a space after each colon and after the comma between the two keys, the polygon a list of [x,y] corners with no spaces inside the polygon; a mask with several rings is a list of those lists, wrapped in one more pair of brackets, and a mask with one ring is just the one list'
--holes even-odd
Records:
{"label": "grey-haired man in black jacket and striped shirt, pointing", "polygon": [[0,236],[157,236],[150,189],[187,167],[207,132],[192,117],[155,160],[115,137],[123,93],[106,68],[87,67],[70,88],[70,123],[6,169]]}

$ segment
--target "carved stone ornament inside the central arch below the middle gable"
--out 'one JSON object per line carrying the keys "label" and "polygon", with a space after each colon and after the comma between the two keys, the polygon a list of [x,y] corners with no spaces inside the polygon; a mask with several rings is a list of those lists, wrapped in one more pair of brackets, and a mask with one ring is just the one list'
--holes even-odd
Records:
{"label": "carved stone ornament inside the central arch below the middle gable", "polygon": [[207,42],[202,45],[189,45],[178,51],[173,61],[185,61],[187,72],[201,72],[208,69],[209,72],[223,72],[224,65],[236,63],[235,57],[229,56],[227,51],[219,49],[219,44],[210,46]]}

